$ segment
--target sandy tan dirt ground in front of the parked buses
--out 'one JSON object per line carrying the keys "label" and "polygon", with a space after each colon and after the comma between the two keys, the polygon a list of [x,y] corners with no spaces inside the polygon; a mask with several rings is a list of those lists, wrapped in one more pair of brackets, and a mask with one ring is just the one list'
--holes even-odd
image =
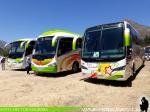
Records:
{"label": "sandy tan dirt ground in front of the parked buses", "polygon": [[150,102],[150,62],[127,82],[83,80],[82,73],[43,76],[0,71],[1,106],[135,108],[143,96]]}

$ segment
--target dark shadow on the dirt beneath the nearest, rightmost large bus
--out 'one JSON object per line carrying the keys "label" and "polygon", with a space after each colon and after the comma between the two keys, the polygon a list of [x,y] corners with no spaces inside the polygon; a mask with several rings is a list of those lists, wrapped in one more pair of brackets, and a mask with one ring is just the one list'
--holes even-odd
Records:
{"label": "dark shadow on the dirt beneath the nearest, rightmost large bus", "polygon": [[115,81],[115,80],[104,80],[104,79],[92,79],[92,78],[87,78],[87,79],[81,79],[84,80],[85,82],[92,83],[92,84],[98,84],[98,85],[106,85],[106,86],[115,86],[115,87],[132,87],[132,82],[136,79],[136,76],[139,74],[140,70],[144,66],[141,66],[137,72],[131,76],[127,81]]}

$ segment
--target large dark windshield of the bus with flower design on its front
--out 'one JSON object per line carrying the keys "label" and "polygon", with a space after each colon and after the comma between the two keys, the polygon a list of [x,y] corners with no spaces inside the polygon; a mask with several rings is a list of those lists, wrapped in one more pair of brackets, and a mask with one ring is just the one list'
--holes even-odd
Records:
{"label": "large dark windshield of the bus with flower design on its front", "polygon": [[123,27],[86,31],[84,35],[83,58],[121,58],[125,55]]}

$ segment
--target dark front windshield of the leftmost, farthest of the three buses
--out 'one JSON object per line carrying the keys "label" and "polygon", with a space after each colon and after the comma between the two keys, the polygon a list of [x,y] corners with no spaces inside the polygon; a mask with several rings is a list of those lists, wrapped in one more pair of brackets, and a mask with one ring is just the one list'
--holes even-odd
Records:
{"label": "dark front windshield of the leftmost, farthest of the three buses", "polygon": [[21,47],[23,41],[13,42],[10,44],[9,58],[16,59],[22,58],[25,52],[25,43]]}

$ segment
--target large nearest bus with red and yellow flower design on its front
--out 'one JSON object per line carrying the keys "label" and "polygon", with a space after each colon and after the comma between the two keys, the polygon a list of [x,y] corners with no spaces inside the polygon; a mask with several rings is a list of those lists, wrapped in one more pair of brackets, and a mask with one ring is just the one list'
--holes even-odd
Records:
{"label": "large nearest bus with red and yellow flower design on its front", "polygon": [[81,68],[86,78],[125,81],[144,64],[139,33],[128,22],[86,29]]}

